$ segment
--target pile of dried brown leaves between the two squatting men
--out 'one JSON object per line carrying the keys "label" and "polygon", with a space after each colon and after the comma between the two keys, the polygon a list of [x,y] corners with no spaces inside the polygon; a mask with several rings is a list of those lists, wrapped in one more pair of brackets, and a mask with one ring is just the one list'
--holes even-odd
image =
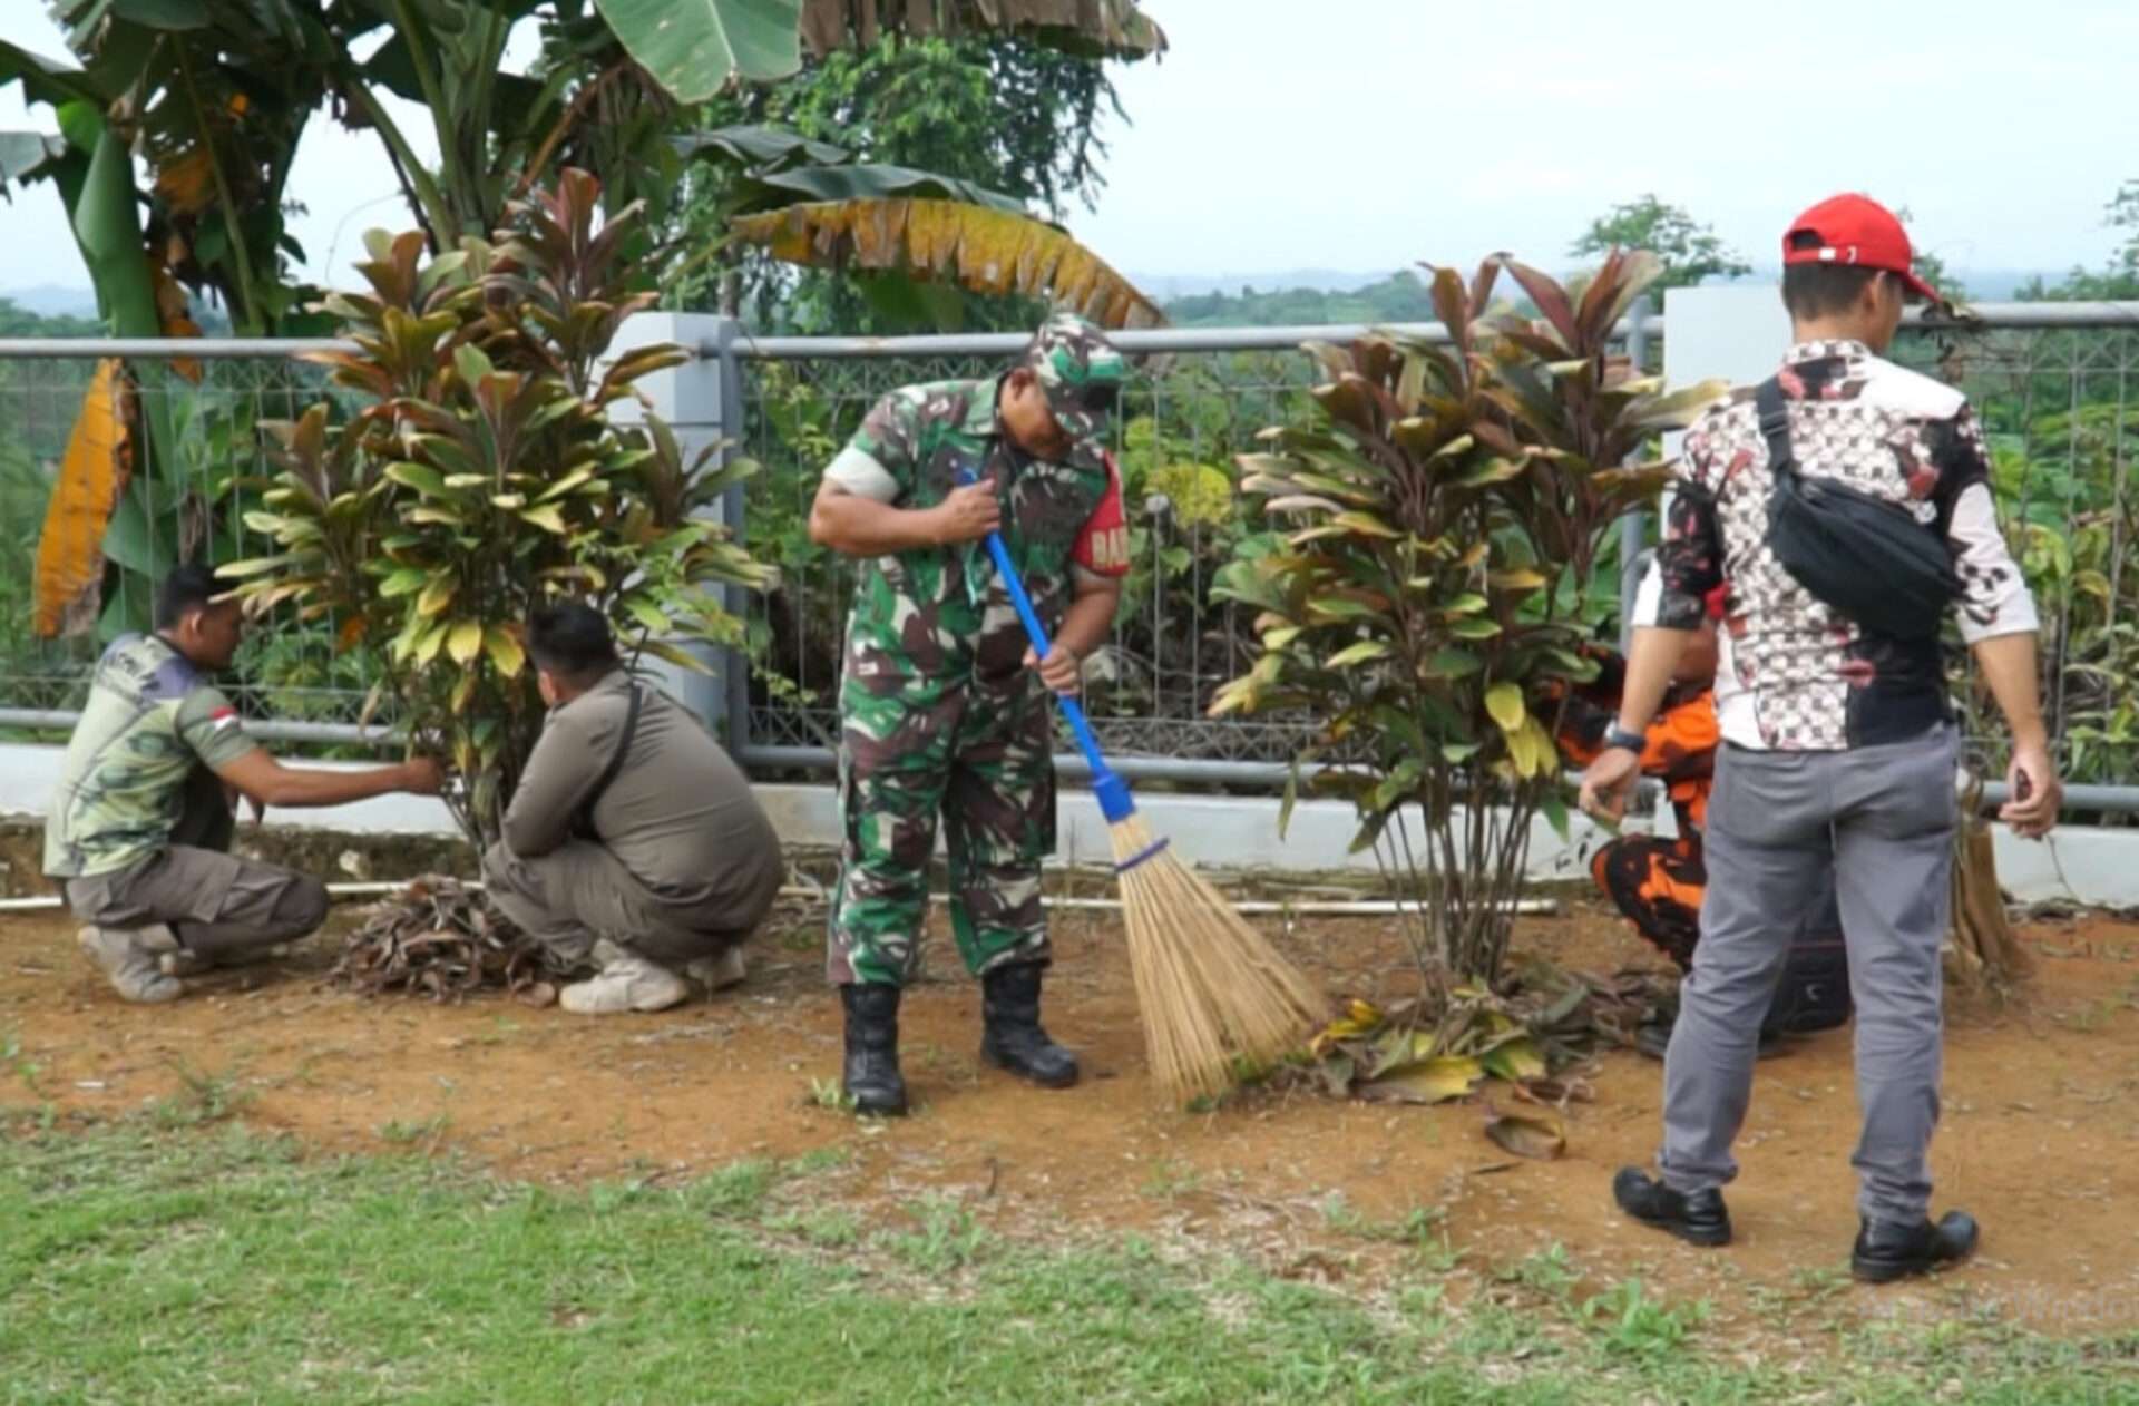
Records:
{"label": "pile of dried brown leaves between the two squatting men", "polygon": [[443,875],[413,880],[374,903],[327,972],[361,995],[400,991],[458,1002],[471,991],[507,991],[530,1006],[556,999],[565,976],[539,942],[515,929],[479,888]]}

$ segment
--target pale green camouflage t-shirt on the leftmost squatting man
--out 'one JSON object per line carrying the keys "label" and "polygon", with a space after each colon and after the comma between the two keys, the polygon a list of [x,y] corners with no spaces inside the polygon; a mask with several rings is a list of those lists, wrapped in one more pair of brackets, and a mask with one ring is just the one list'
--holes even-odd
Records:
{"label": "pale green camouflage t-shirt on the leftmost squatting man", "polygon": [[171,841],[195,766],[225,766],[257,743],[237,708],[156,636],[105,651],[66,745],[45,820],[45,873],[116,873]]}

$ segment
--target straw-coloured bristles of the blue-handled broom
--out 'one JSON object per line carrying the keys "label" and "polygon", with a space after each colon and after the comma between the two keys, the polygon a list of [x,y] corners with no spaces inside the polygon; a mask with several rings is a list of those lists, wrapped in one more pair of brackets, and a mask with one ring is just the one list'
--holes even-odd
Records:
{"label": "straw-coloured bristles of the blue-handled broom", "polygon": [[1151,1074],[1179,1102],[1221,1094],[1236,1059],[1296,1049],[1324,999],[1251,922],[1172,852],[1142,815],[1112,826],[1129,929],[1129,972],[1144,1012]]}

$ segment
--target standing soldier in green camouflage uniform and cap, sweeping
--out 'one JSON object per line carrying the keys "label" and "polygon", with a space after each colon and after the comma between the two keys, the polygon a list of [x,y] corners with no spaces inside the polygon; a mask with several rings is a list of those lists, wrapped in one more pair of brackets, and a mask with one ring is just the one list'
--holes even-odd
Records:
{"label": "standing soldier in green camouflage uniform and cap, sweeping", "polygon": [[[937,813],[952,931],[984,987],[982,1057],[1044,1087],[1076,1057],[1040,1027],[1055,847],[1052,704],[1074,691],[1121,599],[1127,529],[1102,437],[1127,377],[1080,317],[1050,319],[986,381],[886,396],[826,469],[811,537],[862,559],[841,681],[841,856],[830,980],[845,1087],[905,1113],[898,993],[913,972]],[[1052,651],[1035,659],[984,537],[1001,531]]]}

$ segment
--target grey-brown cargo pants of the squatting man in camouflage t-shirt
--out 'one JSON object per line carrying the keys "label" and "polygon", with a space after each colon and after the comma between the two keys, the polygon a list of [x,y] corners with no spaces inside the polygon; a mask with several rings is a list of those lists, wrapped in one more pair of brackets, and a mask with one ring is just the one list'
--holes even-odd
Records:
{"label": "grey-brown cargo pants of the squatting man in camouflage t-shirt", "polygon": [[195,768],[171,843],[118,873],[68,880],[66,905],[96,927],[165,922],[186,950],[210,961],[295,942],[327,920],[325,884],[229,854],[235,835],[222,781]]}

